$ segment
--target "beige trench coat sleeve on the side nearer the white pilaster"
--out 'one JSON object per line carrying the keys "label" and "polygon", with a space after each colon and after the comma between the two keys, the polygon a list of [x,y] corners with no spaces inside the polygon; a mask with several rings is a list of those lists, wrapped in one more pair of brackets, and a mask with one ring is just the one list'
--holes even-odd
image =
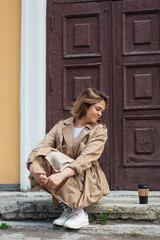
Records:
{"label": "beige trench coat sleeve on the side nearer the white pilaster", "polygon": [[56,130],[57,125],[55,125],[44,137],[44,139],[37,145],[36,148],[32,150],[32,152],[29,154],[28,161],[27,161],[27,168],[29,166],[29,163],[33,162],[34,158],[39,155],[47,155],[51,152],[51,149],[56,147],[55,144],[55,136],[56,136]]}

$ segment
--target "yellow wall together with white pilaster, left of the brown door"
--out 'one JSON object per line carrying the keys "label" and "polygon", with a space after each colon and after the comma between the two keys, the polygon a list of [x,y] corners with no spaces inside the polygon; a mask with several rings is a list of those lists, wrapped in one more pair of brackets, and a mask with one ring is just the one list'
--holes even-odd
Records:
{"label": "yellow wall together with white pilaster, left of the brown door", "polygon": [[25,163],[46,128],[46,1],[2,0],[0,11],[0,189],[27,190]]}

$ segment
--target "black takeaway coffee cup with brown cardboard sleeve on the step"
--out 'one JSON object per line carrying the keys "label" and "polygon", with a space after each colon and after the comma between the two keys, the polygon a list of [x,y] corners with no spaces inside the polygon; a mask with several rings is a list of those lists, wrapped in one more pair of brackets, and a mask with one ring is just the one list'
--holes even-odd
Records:
{"label": "black takeaway coffee cup with brown cardboard sleeve on the step", "polygon": [[138,195],[139,195],[139,203],[140,204],[148,203],[149,189],[146,184],[138,185]]}

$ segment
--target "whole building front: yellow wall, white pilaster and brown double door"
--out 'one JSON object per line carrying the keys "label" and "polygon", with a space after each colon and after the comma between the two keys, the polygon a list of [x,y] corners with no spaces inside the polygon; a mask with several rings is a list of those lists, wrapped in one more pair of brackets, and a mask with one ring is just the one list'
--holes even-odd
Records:
{"label": "whole building front: yellow wall, white pilaster and brown double door", "polygon": [[29,152],[70,115],[81,90],[95,87],[110,96],[100,164],[111,189],[159,190],[160,2],[0,4],[0,189],[29,189]]}

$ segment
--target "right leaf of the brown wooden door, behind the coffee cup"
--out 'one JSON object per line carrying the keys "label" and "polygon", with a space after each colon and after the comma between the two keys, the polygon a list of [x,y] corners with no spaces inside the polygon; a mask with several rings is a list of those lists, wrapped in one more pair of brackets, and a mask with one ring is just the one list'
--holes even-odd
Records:
{"label": "right leaf of the brown wooden door, behind the coffee cup", "polygon": [[160,190],[160,1],[112,4],[114,188]]}

